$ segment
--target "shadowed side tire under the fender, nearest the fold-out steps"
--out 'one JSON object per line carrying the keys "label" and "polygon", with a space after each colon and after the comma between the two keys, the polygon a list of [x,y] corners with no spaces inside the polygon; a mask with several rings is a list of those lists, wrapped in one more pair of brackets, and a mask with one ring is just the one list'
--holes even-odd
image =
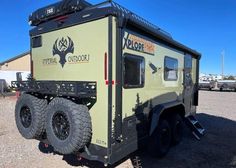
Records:
{"label": "shadowed side tire under the fender, nearest the fold-out steps", "polygon": [[179,114],[174,114],[171,116],[170,120],[172,144],[177,145],[181,142],[183,138],[184,123],[183,119]]}

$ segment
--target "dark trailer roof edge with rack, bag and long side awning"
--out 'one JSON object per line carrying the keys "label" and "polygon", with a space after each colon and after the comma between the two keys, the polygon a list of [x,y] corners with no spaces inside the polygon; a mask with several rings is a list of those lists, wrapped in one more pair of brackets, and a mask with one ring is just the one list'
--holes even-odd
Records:
{"label": "dark trailer roof edge with rack, bag and long side awning", "polygon": [[[65,4],[70,5],[70,6],[65,6]],[[51,8],[53,5],[55,7],[60,7],[58,11],[60,11],[61,9],[62,10],[60,12],[56,12],[54,15],[48,16],[47,10],[49,9],[49,7]],[[86,12],[98,13],[98,11],[100,11],[99,17],[102,17],[102,16],[105,17],[108,15],[119,17],[123,19],[125,23],[130,24],[136,27],[137,29],[142,30],[146,34],[149,34],[155,38],[158,38],[159,40],[170,45],[171,47],[181,50],[185,53],[191,54],[198,59],[201,58],[201,54],[199,52],[177,42],[171,37],[171,35],[168,32],[162,30],[158,26],[150,23],[149,21],[143,19],[142,17],[136,15],[135,13],[131,12],[130,10],[122,7],[121,5],[113,1],[106,1],[97,5],[91,5],[84,0],[63,0],[58,3],[36,10],[34,13],[31,14],[29,21],[32,26],[38,26],[49,20],[55,19],[58,16],[75,14],[75,13],[80,13],[80,12],[81,13],[86,13]]]}

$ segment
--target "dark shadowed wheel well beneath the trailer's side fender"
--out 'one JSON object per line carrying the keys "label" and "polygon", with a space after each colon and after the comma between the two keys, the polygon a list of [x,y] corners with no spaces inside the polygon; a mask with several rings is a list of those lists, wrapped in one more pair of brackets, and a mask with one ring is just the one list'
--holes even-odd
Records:
{"label": "dark shadowed wheel well beneath the trailer's side fender", "polygon": [[179,114],[182,118],[184,118],[185,117],[185,108],[184,108],[184,106],[183,105],[177,105],[177,106],[165,109],[161,113],[159,120],[161,120],[161,119],[167,119],[168,120],[168,118],[170,118],[170,116],[173,115],[173,114]]}

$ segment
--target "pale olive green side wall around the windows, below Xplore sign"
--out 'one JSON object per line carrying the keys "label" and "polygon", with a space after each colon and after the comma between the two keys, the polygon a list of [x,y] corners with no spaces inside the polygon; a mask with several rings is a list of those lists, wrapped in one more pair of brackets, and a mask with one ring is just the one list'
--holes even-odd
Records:
{"label": "pale olive green side wall around the windows, below Xplore sign", "polygon": [[[134,32],[125,32],[124,35],[124,50],[123,55],[133,55],[144,59],[144,74],[143,86],[123,89],[123,118],[134,115],[134,109],[138,105],[147,104],[144,109],[144,113],[150,111],[150,106],[156,106],[165,102],[175,101],[182,99],[183,92],[183,64],[184,64],[184,53],[171,49],[161,43],[157,43],[145,36],[139,35]],[[126,39],[132,39],[133,43],[140,41],[148,46],[150,51],[138,51],[137,49],[130,49],[125,44]],[[142,42],[143,41],[143,42]],[[134,45],[134,44],[133,44]],[[135,51],[136,50],[136,51]],[[149,52],[149,53],[148,53]],[[174,58],[177,60],[177,79],[176,80],[165,80],[165,58]],[[138,75],[138,74],[134,74]]]}

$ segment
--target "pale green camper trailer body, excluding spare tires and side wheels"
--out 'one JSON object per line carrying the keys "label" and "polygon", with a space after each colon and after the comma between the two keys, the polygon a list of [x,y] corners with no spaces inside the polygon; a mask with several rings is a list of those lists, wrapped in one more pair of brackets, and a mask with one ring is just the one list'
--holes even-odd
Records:
{"label": "pale green camper trailer body, excluding spare tires and side wheels", "polygon": [[[13,84],[22,95],[46,100],[48,113],[58,98],[88,108],[91,128],[80,156],[113,164],[153,137],[161,120],[196,114],[198,52],[114,2],[48,20],[35,19],[37,12],[30,31],[33,79]],[[37,139],[51,144],[48,127]]]}

